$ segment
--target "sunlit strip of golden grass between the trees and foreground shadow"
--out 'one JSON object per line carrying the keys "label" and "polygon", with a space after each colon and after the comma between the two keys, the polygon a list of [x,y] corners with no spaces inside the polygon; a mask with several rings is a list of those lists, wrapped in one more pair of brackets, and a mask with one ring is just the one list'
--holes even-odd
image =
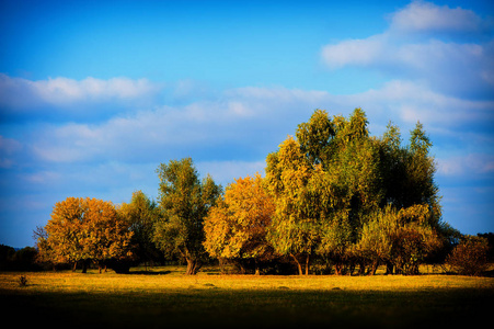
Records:
{"label": "sunlit strip of golden grass between the trees and foreground shadow", "polygon": [[[217,275],[199,272],[183,275],[180,266],[152,268],[148,274],[135,269],[139,274],[115,274],[113,271],[99,274],[89,270],[88,274],[64,272],[24,273],[27,277],[26,292],[60,293],[118,293],[141,292],[143,294],[176,290],[297,290],[297,291],[413,291],[434,288],[494,288],[494,279],[459,275]],[[133,271],[131,271],[133,273]],[[19,288],[21,273],[0,273],[0,288]]]}

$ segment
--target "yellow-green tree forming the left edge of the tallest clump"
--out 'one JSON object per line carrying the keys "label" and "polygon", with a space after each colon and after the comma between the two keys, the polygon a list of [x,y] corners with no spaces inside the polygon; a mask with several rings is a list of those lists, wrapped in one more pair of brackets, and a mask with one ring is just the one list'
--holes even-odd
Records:
{"label": "yellow-green tree forming the left edge of the tallest clump", "polygon": [[309,189],[312,164],[292,137],[282,143],[277,152],[269,154],[266,162],[267,186],[275,203],[268,240],[277,253],[294,259],[300,275],[308,274],[319,239],[320,216],[320,203]]}

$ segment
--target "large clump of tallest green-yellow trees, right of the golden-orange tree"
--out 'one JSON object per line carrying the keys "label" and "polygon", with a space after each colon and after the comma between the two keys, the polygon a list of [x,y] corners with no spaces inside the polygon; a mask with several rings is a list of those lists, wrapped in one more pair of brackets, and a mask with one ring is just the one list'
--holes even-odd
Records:
{"label": "large clump of tallest green-yellow trees, right of the golden-orange tree", "polygon": [[294,257],[300,273],[301,260],[308,273],[313,256],[331,261],[336,273],[355,262],[361,273],[366,263],[374,273],[380,262],[416,273],[447,232],[423,125],[411,132],[407,147],[391,123],[381,138],[371,137],[367,125],[361,109],[349,118],[315,110],[298,126],[297,139],[288,137],[266,159],[276,205],[268,237],[278,253]]}

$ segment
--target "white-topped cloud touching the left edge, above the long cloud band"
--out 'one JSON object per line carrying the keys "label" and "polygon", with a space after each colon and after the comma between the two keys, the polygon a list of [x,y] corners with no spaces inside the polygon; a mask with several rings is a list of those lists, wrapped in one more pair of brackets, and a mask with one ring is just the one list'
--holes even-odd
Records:
{"label": "white-topped cloud touching the left edge, above the long cloud band", "polygon": [[128,104],[146,104],[160,86],[148,79],[116,77],[107,80],[66,77],[32,81],[0,73],[0,109],[3,121],[33,118],[88,118],[100,116],[101,106],[111,112]]}

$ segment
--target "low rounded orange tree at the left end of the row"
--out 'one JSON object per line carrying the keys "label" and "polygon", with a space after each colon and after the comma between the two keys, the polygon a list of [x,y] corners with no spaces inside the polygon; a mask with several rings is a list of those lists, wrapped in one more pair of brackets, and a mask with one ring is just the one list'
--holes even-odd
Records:
{"label": "low rounded orange tree at the left end of the row", "polygon": [[131,257],[133,232],[112,203],[97,198],[67,197],[57,202],[51,218],[38,235],[39,257],[53,263],[100,265]]}

